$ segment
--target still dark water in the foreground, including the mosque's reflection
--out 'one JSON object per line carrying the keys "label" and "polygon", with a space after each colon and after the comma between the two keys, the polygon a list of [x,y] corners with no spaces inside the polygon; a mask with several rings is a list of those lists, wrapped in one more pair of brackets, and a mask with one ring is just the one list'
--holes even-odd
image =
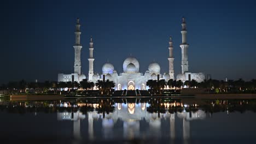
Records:
{"label": "still dark water in the foreground, including the mosque's reflection", "polygon": [[255,100],[0,101],[1,143],[254,143]]}

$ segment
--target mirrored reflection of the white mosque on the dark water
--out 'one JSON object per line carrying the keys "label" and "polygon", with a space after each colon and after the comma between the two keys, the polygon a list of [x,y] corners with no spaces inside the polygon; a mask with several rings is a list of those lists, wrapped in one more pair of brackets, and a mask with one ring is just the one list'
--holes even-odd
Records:
{"label": "mirrored reflection of the white mosque on the dark water", "polygon": [[[78,104],[79,105],[79,104]],[[91,104],[95,108],[98,104]],[[169,106],[175,105],[175,103],[164,103],[166,106],[166,111]],[[76,139],[80,139],[80,120],[88,119],[88,139],[95,139],[95,124],[101,120],[101,128],[102,128],[102,136],[104,139],[110,139],[114,134],[114,130],[117,127],[122,127],[122,136],[123,139],[134,139],[134,138],[142,138],[139,137],[142,135],[144,137],[149,136],[161,136],[161,120],[165,119],[168,125],[170,125],[170,135],[171,139],[175,139],[176,136],[176,128],[175,128],[175,119],[182,119],[183,121],[183,139],[189,139],[190,137],[190,121],[194,119],[204,119],[206,117],[206,113],[202,110],[198,110],[196,112],[186,112],[185,110],[177,113],[149,113],[147,111],[147,107],[149,107],[148,103],[115,103],[114,112],[110,112],[103,116],[102,113],[98,113],[97,111],[90,111],[83,115],[82,112],[59,112],[57,113],[57,119],[62,120],[71,120],[73,121],[73,134]],[[104,117],[104,118],[103,118]],[[122,123],[120,126],[120,122]],[[97,123],[98,124],[98,123]],[[120,131],[119,134],[120,136]],[[120,138],[120,137],[119,137]]]}

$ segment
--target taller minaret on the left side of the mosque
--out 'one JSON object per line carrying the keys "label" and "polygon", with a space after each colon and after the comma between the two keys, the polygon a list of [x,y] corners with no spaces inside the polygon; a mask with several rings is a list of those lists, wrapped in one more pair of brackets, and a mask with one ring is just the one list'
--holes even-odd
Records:
{"label": "taller minaret on the left side of the mosque", "polygon": [[77,24],[75,25],[75,61],[74,61],[74,73],[75,74],[81,74],[81,49],[82,45],[80,44],[80,23],[79,19],[77,18]]}

